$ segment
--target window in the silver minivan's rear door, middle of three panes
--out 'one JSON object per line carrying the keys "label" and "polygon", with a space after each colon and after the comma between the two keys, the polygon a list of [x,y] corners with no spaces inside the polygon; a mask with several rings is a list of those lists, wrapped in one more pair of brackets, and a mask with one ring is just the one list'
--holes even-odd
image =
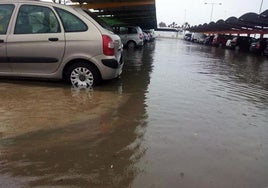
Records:
{"label": "window in the silver minivan's rear door, middle of three panes", "polygon": [[15,25],[15,34],[59,33],[59,22],[50,8],[22,5]]}

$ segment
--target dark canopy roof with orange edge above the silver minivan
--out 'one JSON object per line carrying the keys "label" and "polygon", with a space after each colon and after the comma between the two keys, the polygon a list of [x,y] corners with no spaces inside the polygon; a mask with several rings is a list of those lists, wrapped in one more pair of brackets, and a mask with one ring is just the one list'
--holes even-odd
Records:
{"label": "dark canopy roof with orange edge above the silver minivan", "polygon": [[132,25],[143,29],[157,28],[155,0],[72,0],[94,9],[110,25]]}

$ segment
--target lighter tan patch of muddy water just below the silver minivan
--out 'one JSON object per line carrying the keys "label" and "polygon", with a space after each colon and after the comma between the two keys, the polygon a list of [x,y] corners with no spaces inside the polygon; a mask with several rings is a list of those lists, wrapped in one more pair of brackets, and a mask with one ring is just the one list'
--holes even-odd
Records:
{"label": "lighter tan patch of muddy water just below the silver minivan", "polygon": [[0,95],[2,137],[94,119],[126,100],[117,93],[16,84],[2,86]]}

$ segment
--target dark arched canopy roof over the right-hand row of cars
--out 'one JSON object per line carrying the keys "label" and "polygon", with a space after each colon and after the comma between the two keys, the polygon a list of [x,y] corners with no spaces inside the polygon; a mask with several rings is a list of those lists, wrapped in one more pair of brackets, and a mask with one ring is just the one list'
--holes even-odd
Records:
{"label": "dark arched canopy roof over the right-hand row of cars", "polygon": [[189,28],[191,32],[204,33],[245,33],[245,34],[268,34],[268,10],[261,14],[246,13],[236,18],[210,22]]}

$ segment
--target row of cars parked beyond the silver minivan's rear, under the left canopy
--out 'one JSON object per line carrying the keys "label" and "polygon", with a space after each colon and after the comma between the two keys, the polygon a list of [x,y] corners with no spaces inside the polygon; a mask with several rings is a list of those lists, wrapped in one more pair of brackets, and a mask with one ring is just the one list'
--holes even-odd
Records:
{"label": "row of cars parked beyond the silver minivan's rear, under the left canopy", "polygon": [[154,30],[142,30],[139,26],[113,26],[113,31],[126,48],[142,47],[156,38]]}

